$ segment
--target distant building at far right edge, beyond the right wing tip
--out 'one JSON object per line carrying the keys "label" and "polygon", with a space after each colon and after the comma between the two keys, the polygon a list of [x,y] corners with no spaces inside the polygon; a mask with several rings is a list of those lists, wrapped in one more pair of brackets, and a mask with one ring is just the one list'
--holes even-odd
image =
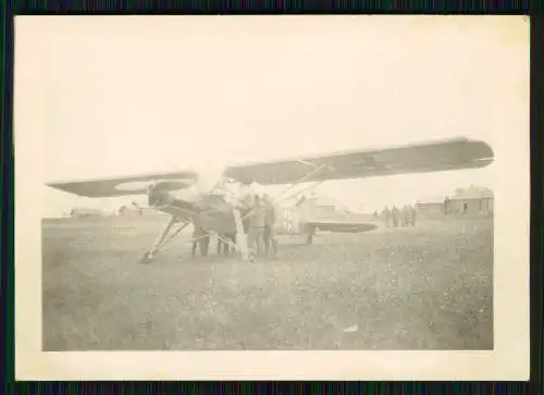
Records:
{"label": "distant building at far right edge, beyond the right wing tip", "polygon": [[447,212],[453,214],[482,214],[493,213],[493,192],[489,188],[471,185],[459,188],[447,199]]}

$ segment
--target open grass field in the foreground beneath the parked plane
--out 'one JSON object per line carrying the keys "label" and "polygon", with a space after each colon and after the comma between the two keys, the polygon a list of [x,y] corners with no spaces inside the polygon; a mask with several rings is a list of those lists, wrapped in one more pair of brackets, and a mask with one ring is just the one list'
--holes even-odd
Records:
{"label": "open grass field in the foreground beneath the parked plane", "polygon": [[163,221],[44,222],[45,350],[493,348],[492,220],[139,264]]}

